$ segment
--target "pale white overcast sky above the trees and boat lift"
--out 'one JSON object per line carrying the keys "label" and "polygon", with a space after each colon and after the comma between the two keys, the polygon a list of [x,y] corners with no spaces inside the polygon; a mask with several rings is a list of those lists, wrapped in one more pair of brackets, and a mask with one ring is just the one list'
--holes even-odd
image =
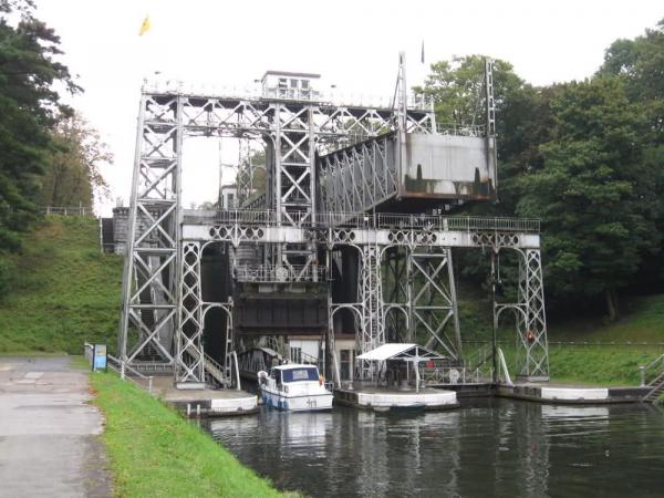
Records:
{"label": "pale white overcast sky above the trees and boat lift", "polygon": [[[73,106],[115,154],[115,164],[104,173],[113,197],[124,199],[131,188],[141,84],[155,71],[160,77],[240,86],[269,69],[318,72],[325,87],[335,84],[343,93],[391,95],[397,54],[404,50],[409,86],[422,83],[428,64],[470,53],[509,61],[521,77],[543,85],[591,75],[613,40],[642,34],[664,18],[661,1],[644,0],[37,0],[37,4],[39,18],[62,39],[62,61],[85,90]],[[152,29],[138,37],[146,14]],[[423,41],[426,65],[419,61]],[[216,198],[217,149],[218,144],[211,143],[186,145],[185,179],[197,178],[185,185],[186,203]],[[225,147],[224,160],[232,160],[232,154]]]}

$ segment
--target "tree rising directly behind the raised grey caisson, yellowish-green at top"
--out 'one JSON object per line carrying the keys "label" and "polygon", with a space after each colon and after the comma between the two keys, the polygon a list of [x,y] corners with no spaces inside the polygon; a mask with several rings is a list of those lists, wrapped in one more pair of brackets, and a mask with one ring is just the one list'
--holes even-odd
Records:
{"label": "tree rising directly behind the raised grey caisson, yellowish-green at top", "polygon": [[[424,87],[416,93],[434,100],[436,121],[443,126],[486,123],[484,90],[485,55],[454,58],[432,64],[432,73]],[[513,179],[530,167],[537,154],[546,114],[546,102],[540,93],[520,79],[506,61],[494,61],[494,96],[496,103],[496,133],[498,143],[498,204],[469,203],[456,208],[456,214],[513,216],[517,195]],[[544,120],[546,121],[546,120]],[[455,255],[460,274],[475,282],[485,282],[489,261],[479,252],[460,251]],[[504,260],[505,261],[505,260]],[[508,263],[504,274],[510,273]],[[516,268],[512,271],[517,273]]]}

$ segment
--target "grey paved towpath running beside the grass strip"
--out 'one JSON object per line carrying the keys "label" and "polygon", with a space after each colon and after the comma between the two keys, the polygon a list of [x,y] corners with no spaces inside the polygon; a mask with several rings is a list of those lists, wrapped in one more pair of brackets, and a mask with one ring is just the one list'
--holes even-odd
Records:
{"label": "grey paved towpath running beside the grass strip", "polygon": [[68,357],[0,357],[0,497],[106,497],[103,418]]}

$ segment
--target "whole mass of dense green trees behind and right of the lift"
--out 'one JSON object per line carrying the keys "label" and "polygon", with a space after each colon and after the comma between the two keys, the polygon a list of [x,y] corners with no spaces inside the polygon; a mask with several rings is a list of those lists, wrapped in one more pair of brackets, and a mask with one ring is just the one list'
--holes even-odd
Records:
{"label": "whole mass of dense green trees behind and right of the lift", "polygon": [[[435,98],[439,122],[486,122],[483,61],[432,65],[416,90]],[[602,301],[616,319],[619,291],[664,290],[663,75],[664,21],[614,42],[581,82],[533,87],[509,63],[495,63],[500,203],[463,210],[542,219],[553,310]],[[486,278],[487,258],[459,259],[465,277]],[[509,261],[504,276],[513,276]]]}

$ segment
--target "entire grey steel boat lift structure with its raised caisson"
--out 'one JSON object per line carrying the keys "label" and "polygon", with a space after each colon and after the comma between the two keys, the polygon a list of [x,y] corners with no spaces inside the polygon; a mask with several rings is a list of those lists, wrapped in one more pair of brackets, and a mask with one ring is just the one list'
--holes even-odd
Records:
{"label": "entire grey steel boat lift structure with its raised caisson", "polygon": [[[436,123],[433,103],[408,94],[403,54],[395,98],[377,105],[325,97],[318,75],[304,73],[268,72],[250,93],[146,84],[118,329],[123,370],[162,365],[181,388],[229,387],[240,345],[300,325],[321,338],[320,361],[336,383],[335,340],[349,329],[356,355],[424,342],[463,364],[452,249],[475,248],[518,253],[517,301],[495,302],[495,320],[515,313],[518,376],[548,380],[539,222],[444,215],[460,201],[496,199],[492,72],[487,60],[486,123],[453,128]],[[263,143],[264,193],[252,191],[249,162],[238,173],[239,208],[185,210],[181,151],[191,136]],[[203,269],[210,248],[222,261],[214,299]],[[212,310],[224,317],[216,360],[205,339]],[[350,370],[357,380],[376,375],[363,360]]]}

